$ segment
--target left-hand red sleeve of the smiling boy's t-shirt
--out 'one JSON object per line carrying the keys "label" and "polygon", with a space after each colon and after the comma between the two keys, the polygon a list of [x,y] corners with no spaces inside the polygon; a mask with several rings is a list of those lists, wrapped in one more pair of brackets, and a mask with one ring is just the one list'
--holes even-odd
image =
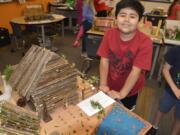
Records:
{"label": "left-hand red sleeve of the smiling boy's t-shirt", "polygon": [[102,39],[102,42],[99,46],[99,49],[97,51],[97,55],[100,57],[109,57],[109,41],[108,41],[108,31],[104,34],[104,37]]}

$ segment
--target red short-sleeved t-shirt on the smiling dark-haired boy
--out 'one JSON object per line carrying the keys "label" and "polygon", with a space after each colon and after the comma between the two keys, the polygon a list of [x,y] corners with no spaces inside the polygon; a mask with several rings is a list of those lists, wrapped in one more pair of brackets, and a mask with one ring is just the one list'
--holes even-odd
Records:
{"label": "red short-sleeved t-shirt on the smiling dark-haired boy", "polygon": [[132,66],[141,68],[142,72],[128,96],[142,89],[145,71],[151,68],[152,41],[148,36],[137,30],[133,39],[122,41],[118,28],[112,28],[105,33],[97,54],[109,59],[107,83],[111,90],[121,90]]}

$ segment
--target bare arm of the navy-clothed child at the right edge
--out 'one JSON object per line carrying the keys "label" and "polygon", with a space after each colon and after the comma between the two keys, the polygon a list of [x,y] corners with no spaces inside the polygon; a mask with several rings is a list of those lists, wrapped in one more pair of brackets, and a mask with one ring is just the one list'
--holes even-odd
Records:
{"label": "bare arm of the navy-clothed child at the right edge", "polygon": [[175,96],[180,99],[180,89],[177,88],[176,84],[174,83],[171,74],[170,74],[171,65],[169,65],[167,62],[165,63],[163,67],[163,75],[169,86],[171,87],[173,93]]}

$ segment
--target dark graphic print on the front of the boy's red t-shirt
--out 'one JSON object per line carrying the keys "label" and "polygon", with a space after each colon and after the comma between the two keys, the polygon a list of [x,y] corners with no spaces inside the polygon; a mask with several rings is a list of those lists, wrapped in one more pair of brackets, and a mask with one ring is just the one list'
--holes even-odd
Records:
{"label": "dark graphic print on the front of the boy's red t-shirt", "polygon": [[133,53],[128,49],[121,56],[117,56],[110,50],[109,52],[111,78],[116,80],[119,77],[125,77],[129,74],[133,65]]}

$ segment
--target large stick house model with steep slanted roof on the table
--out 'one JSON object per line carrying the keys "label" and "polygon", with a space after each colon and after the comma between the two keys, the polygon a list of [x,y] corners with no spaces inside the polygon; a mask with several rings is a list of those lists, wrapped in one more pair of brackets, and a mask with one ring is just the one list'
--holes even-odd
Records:
{"label": "large stick house model with steep slanted roof on the table", "polygon": [[42,111],[52,111],[57,104],[77,103],[77,75],[63,57],[33,45],[13,71],[9,83],[20,96]]}

